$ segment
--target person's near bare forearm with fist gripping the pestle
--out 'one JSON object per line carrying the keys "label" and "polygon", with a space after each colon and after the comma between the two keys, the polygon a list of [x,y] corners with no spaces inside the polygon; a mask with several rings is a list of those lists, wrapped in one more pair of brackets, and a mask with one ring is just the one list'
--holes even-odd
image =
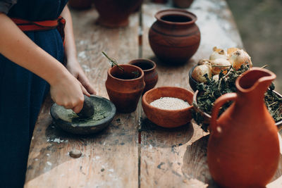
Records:
{"label": "person's near bare forearm with fist gripping the pestle", "polygon": [[0,54],[49,82],[51,98],[56,104],[80,112],[83,93],[89,95],[82,84],[4,13],[0,13],[0,23]]}

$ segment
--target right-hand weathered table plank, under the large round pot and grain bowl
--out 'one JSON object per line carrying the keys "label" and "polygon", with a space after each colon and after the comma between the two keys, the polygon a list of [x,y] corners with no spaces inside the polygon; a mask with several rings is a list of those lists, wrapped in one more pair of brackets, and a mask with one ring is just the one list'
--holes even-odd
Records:
{"label": "right-hand weathered table plank, under the large round pot and grain bowl", "polygon": [[[154,14],[166,8],[171,8],[171,5],[145,4],[142,10],[142,53],[144,58],[152,58],[157,63],[157,87],[177,86],[190,89],[189,69],[200,58],[209,58],[214,46],[222,49],[233,46],[243,48],[226,1],[197,0],[188,8],[188,11],[197,15],[196,23],[200,27],[201,43],[197,53],[182,66],[162,64],[154,58],[147,34],[156,20]],[[216,187],[207,166],[208,135],[197,124],[168,130],[157,127],[142,114],[140,132],[140,187]],[[280,163],[274,180],[281,177],[281,170]]]}

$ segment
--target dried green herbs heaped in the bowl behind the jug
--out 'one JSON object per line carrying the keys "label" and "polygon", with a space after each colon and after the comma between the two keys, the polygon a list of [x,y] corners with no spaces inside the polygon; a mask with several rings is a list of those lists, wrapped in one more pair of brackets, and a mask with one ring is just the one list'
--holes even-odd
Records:
{"label": "dried green herbs heaped in the bowl behind the jug", "polygon": [[[216,99],[223,94],[236,92],[237,89],[235,87],[235,80],[248,69],[248,65],[242,65],[239,70],[235,70],[231,67],[228,69],[228,73],[226,73],[226,75],[224,75],[221,70],[218,81],[209,79],[207,75],[204,75],[207,79],[207,83],[197,84],[197,89],[199,90],[197,104],[193,105],[200,108],[201,111],[211,114],[212,107],[214,106]],[[264,101],[269,113],[272,115],[274,120],[278,122],[282,120],[282,99],[273,90],[274,84],[271,84],[271,87],[269,87],[269,90],[265,93]],[[231,104],[232,101],[224,104],[221,107],[219,114],[223,113],[223,111],[225,111]],[[202,130],[207,132],[209,123],[204,122],[202,114],[194,111],[192,115],[196,123],[202,127]]]}

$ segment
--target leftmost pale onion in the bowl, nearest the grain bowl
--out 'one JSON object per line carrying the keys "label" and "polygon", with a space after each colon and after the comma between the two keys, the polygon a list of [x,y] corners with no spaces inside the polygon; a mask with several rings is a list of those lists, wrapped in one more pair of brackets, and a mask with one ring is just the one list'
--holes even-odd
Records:
{"label": "leftmost pale onion in the bowl, nearest the grain bowl", "polygon": [[192,72],[192,78],[196,80],[197,82],[207,82],[204,75],[207,74],[209,78],[212,77],[212,68],[209,65],[197,65],[193,72]]}

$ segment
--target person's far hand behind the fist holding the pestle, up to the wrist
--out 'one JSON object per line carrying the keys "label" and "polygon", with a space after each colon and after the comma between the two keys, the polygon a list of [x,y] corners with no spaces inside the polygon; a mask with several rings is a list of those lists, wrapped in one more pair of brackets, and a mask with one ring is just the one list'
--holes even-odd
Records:
{"label": "person's far hand behind the fist holding the pestle, up to the wrist", "polygon": [[95,90],[93,89],[90,81],[87,79],[84,71],[82,70],[78,60],[76,58],[68,59],[66,64],[66,68],[68,71],[80,81],[83,87],[89,92],[90,94],[96,94]]}

